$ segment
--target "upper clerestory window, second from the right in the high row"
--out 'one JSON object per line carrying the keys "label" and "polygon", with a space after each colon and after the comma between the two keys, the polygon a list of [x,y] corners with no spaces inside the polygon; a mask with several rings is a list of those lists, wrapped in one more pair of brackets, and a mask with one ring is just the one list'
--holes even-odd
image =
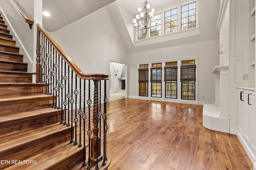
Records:
{"label": "upper clerestory window, second from the right in the high row", "polygon": [[177,9],[175,8],[164,13],[164,33],[172,33],[177,31]]}

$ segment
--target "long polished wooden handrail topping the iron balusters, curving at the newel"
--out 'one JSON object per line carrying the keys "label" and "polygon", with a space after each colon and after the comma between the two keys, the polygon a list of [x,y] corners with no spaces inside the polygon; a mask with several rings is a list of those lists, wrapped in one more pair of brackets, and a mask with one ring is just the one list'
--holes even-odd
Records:
{"label": "long polished wooden handrail topping the iron balusters, curving at the newel", "polygon": [[40,25],[36,24],[37,29],[44,35],[49,43],[54,47],[58,54],[66,61],[68,66],[76,73],[76,75],[83,80],[108,80],[107,74],[86,74],[74,63],[67,53],[54,41],[54,39],[47,33],[47,31]]}

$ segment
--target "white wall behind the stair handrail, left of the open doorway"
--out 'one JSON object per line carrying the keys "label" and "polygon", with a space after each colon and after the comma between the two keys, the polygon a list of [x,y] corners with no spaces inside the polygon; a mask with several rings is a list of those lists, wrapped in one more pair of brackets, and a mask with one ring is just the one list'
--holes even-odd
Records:
{"label": "white wall behind the stair handrail, left of the open doorway", "polygon": [[127,63],[126,49],[106,7],[50,35],[85,73],[109,74],[109,60]]}

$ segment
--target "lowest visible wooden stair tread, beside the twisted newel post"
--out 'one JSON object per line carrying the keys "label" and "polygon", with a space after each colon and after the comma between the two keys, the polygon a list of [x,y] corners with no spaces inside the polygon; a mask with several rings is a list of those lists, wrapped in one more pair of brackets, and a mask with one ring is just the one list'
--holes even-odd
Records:
{"label": "lowest visible wooden stair tread, beside the twisted newel post", "polygon": [[[87,144],[86,147],[89,145]],[[6,168],[6,170],[12,170],[14,168],[33,168],[33,169],[50,169],[52,166],[65,160],[67,157],[80,152],[83,147],[74,146],[73,143],[62,143],[52,149],[46,150],[40,154],[28,158],[28,160],[36,160],[36,164],[16,164]],[[61,152],[60,152],[61,151]]]}

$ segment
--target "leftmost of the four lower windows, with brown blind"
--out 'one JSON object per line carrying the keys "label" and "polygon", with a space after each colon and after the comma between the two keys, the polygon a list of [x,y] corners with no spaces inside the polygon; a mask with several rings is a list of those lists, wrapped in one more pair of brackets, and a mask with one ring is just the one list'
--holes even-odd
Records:
{"label": "leftmost of the four lower windows, with brown blind", "polygon": [[148,96],[148,64],[140,65],[138,74],[139,96]]}

